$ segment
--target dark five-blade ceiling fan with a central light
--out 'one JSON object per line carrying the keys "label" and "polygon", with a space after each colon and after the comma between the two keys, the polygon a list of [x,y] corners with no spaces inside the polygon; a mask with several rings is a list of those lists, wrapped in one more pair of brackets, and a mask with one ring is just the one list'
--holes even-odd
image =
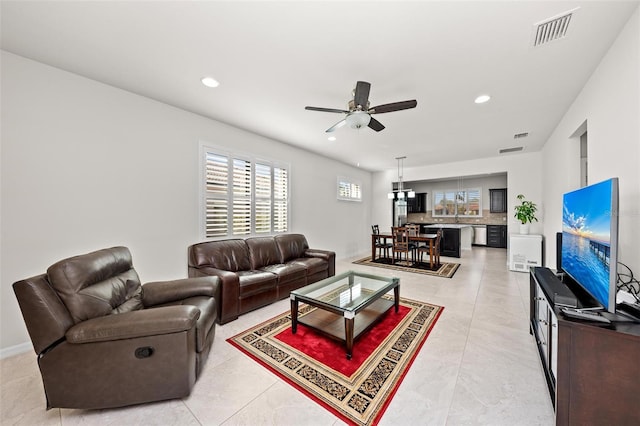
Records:
{"label": "dark five-blade ceiling fan with a central light", "polygon": [[339,129],[340,127],[348,124],[349,127],[359,129],[364,126],[379,132],[384,129],[382,123],[375,118],[371,117],[371,114],[382,114],[385,112],[400,111],[403,109],[415,108],[418,102],[413,99],[411,101],[392,102],[390,104],[378,105],[369,108],[369,90],[371,89],[371,83],[366,81],[359,81],[356,83],[356,88],[353,91],[353,99],[349,101],[348,110],[334,109],[334,108],[320,108],[320,107],[305,107],[304,109],[309,111],[322,111],[322,112],[337,112],[347,114],[345,118],[338,121],[333,126],[329,127],[326,132],[330,133]]}

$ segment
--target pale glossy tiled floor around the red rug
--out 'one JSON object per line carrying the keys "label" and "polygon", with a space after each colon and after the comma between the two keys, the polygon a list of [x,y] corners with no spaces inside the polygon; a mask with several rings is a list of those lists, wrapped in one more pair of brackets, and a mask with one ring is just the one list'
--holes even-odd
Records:
{"label": "pale glossy tiled floor around the red rug", "polygon": [[[364,257],[364,255],[363,255]],[[347,269],[391,271],[338,261]],[[443,260],[455,261],[445,258]],[[506,250],[463,252],[452,279],[393,272],[401,296],[445,307],[381,425],[552,425],[553,407],[528,328],[528,274]],[[0,361],[2,425],[341,425],[342,421],[225,339],[289,309],[283,300],[218,326],[191,396],[140,406],[45,411],[33,352]]]}

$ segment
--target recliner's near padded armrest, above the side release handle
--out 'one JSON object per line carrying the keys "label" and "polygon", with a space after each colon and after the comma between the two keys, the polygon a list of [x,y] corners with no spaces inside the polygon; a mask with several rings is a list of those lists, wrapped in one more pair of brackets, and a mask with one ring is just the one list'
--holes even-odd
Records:
{"label": "recliner's near padded armrest, above the side release handle", "polygon": [[200,310],[195,306],[165,306],[82,321],[69,330],[69,343],[106,342],[179,333],[195,327]]}

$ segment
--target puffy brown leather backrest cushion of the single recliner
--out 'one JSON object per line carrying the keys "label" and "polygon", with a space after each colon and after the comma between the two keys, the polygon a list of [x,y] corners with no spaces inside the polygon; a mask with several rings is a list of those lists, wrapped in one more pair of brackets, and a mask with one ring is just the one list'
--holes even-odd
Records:
{"label": "puffy brown leather backrest cushion of the single recliner", "polygon": [[126,247],[61,260],[47,269],[53,289],[75,323],[142,309],[142,286]]}

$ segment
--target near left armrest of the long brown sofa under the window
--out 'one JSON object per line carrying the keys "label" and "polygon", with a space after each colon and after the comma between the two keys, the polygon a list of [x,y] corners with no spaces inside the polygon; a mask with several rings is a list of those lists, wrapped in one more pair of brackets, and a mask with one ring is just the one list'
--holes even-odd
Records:
{"label": "near left armrest of the long brown sofa under the window", "polygon": [[238,318],[240,313],[240,277],[235,272],[212,267],[189,266],[190,277],[214,276],[220,279],[216,298],[218,323],[225,324]]}

